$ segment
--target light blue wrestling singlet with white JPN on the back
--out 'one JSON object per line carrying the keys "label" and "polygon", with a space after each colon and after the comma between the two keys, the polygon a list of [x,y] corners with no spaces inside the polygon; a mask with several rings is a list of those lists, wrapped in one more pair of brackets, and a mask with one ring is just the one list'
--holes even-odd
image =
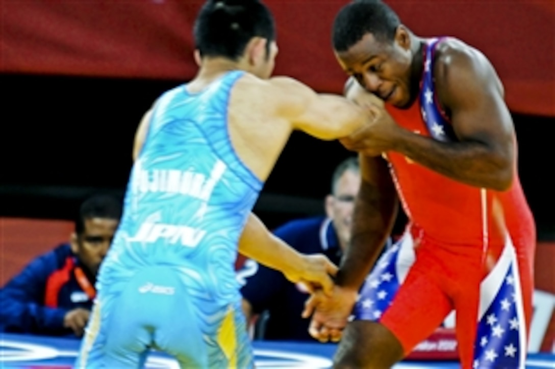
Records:
{"label": "light blue wrestling singlet with white JPN on the back", "polygon": [[229,139],[242,75],[194,94],[181,85],[154,105],[78,366],[141,365],[147,347],[182,366],[252,365],[234,263],[263,183]]}

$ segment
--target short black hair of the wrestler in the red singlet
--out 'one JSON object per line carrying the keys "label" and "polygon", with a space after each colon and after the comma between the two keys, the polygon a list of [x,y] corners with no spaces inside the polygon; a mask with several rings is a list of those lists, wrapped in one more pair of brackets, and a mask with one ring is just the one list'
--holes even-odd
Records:
{"label": "short black hair of the wrestler in the red singlet", "polygon": [[401,20],[381,0],[357,0],[341,8],[334,20],[332,42],[336,52],[345,52],[371,33],[380,42],[392,42]]}

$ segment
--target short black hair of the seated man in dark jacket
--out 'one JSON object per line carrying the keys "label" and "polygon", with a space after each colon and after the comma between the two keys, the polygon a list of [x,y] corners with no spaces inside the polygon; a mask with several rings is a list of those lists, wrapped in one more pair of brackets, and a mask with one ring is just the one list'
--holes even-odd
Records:
{"label": "short black hair of the seated man in dark jacket", "polygon": [[83,234],[85,221],[92,218],[115,219],[122,217],[122,202],[108,194],[95,194],[87,198],[79,207],[75,217],[75,233]]}

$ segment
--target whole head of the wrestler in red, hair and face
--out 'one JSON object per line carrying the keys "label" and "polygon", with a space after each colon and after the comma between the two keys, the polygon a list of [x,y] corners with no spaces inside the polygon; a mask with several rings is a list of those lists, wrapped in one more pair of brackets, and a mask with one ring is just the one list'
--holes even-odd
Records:
{"label": "whole head of the wrestler in red, hair and face", "polygon": [[366,90],[397,107],[413,101],[415,40],[387,4],[380,0],[347,4],[335,18],[332,38],[341,68]]}

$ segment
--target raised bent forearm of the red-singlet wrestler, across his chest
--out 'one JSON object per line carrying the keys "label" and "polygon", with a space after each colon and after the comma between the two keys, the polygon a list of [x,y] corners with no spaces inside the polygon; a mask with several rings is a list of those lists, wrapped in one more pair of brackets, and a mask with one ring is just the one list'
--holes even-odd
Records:
{"label": "raised bent forearm of the red-singlet wrestler, across his chest", "polygon": [[513,153],[479,141],[441,142],[402,133],[394,148],[411,160],[470,186],[507,189],[513,179]]}

